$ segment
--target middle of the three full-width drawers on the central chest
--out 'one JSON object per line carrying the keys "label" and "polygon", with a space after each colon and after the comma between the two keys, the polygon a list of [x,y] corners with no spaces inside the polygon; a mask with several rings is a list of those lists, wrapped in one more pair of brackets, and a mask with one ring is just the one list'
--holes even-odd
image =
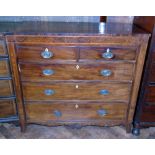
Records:
{"label": "middle of the three full-width drawers on the central chest", "polygon": [[103,100],[128,102],[131,85],[121,83],[23,83],[26,101]]}

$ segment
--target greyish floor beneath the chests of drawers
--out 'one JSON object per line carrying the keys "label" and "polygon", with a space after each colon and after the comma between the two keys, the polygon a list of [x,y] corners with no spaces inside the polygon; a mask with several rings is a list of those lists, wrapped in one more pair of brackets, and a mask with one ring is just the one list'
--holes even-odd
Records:
{"label": "greyish floor beneath the chests of drawers", "polygon": [[155,139],[155,127],[141,129],[140,136],[127,134],[122,126],[86,126],[73,129],[68,126],[47,127],[28,125],[25,133],[14,124],[0,124],[0,139]]}

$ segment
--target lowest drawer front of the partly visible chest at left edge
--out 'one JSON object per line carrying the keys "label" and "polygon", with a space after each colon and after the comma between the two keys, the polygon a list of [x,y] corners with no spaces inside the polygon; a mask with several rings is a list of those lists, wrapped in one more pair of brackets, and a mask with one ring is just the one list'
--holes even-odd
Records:
{"label": "lowest drawer front of the partly visible chest at left edge", "polygon": [[16,114],[15,102],[12,100],[0,100],[0,117],[9,117]]}

